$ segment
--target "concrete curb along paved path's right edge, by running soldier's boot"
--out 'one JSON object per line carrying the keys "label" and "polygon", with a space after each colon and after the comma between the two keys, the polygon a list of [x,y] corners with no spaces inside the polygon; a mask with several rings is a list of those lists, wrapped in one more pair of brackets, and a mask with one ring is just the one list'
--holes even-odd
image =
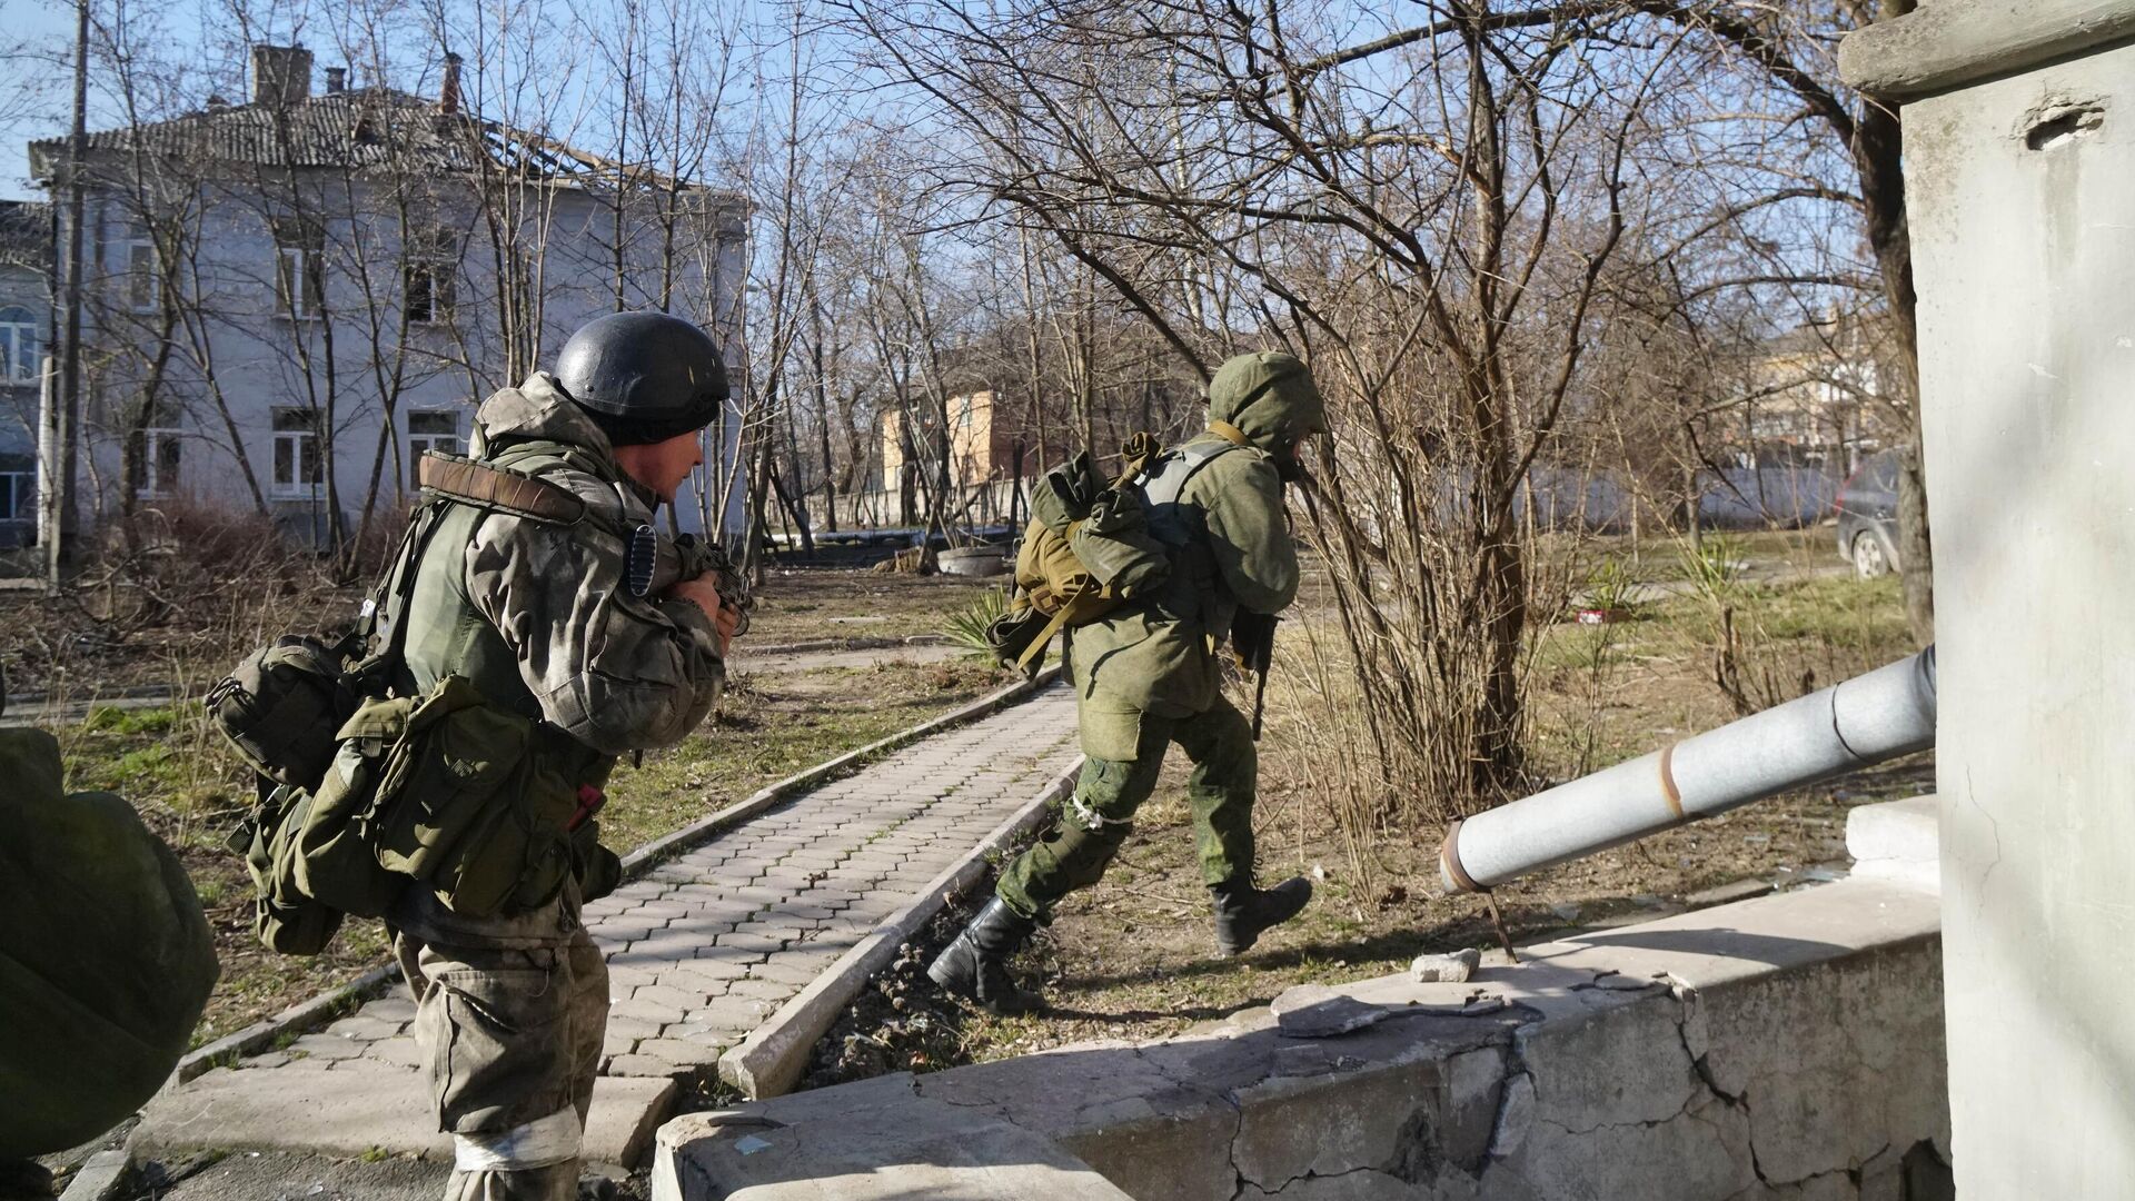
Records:
{"label": "concrete curb along paved path's right edge, by running soldier's boot", "polygon": [[743,1090],[752,1101],[792,1092],[807,1066],[816,1041],[837,1024],[837,1017],[860,996],[867,981],[897,957],[897,949],[918,934],[950,898],[963,895],[986,874],[986,855],[1006,848],[1016,836],[1044,821],[1046,806],[1065,797],[1082,771],[1082,757],[1055,776],[1014,816],[989,833],[969,855],[933,878],[916,902],[890,915],[873,934],[845,951],[837,964],[794,994],[734,1049],[719,1056],[719,1079]]}

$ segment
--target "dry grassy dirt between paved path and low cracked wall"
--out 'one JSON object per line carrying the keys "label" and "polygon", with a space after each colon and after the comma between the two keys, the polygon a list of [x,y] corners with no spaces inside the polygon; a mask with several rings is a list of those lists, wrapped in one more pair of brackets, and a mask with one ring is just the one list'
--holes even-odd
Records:
{"label": "dry grassy dirt between paved path and low cracked wall", "polygon": [[[1834,571],[1825,543],[1828,530],[1721,543],[1740,556],[1727,603],[1746,630],[1744,658],[1789,697],[1913,650],[1896,579],[1855,581],[1843,566]],[[1537,786],[1736,716],[1712,680],[1708,598],[1682,586],[1670,547],[1642,551],[1638,579],[1652,598],[1629,620],[1563,620],[1535,633],[1529,754]],[[1627,547],[1599,543],[1582,553],[1627,558]],[[1298,622],[1285,624],[1292,639],[1298,624],[1328,620],[1324,594],[1309,592],[1294,615]],[[1215,957],[1183,799],[1185,763],[1174,752],[1104,880],[1074,893],[1018,957],[1025,983],[1046,989],[1048,1013],[1001,1019],[939,996],[924,964],[967,917],[954,915],[916,940],[818,1047],[811,1081],[933,1071],[1087,1039],[1155,1039],[1266,1004],[1298,983],[1390,974],[1422,953],[1497,945],[1477,898],[1439,895],[1441,825],[1345,831],[1328,818],[1324,791],[1292,737],[1300,707],[1294,688],[1270,688],[1255,812],[1262,883],[1292,874],[1315,883],[1300,919],[1240,960]],[[1830,865],[1845,868],[1849,808],[1932,789],[1932,752],[1879,765],[1505,885],[1499,908],[1512,938],[1527,942],[1663,917],[1725,883],[1813,883]]]}

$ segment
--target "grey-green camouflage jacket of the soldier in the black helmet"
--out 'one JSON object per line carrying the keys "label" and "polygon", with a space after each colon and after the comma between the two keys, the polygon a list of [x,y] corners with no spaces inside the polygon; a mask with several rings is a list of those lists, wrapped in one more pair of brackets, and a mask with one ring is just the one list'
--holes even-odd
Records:
{"label": "grey-green camouflage jacket of the soldier in the black helmet", "polygon": [[[694,731],[726,669],[711,618],[690,600],[638,598],[623,583],[626,532],[655,500],[615,464],[606,436],[536,372],[474,415],[474,455],[568,487],[587,519],[557,526],[455,506],[431,534],[408,603],[406,686],[468,677],[493,705],[544,720],[568,739],[581,782],[617,754],[673,746]],[[576,889],[553,910],[472,921],[408,889],[393,925],[455,947],[559,945],[576,930]]]}

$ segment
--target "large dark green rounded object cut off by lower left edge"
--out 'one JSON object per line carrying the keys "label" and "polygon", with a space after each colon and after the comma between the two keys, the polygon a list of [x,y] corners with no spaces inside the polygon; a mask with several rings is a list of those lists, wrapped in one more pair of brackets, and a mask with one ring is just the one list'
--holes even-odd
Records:
{"label": "large dark green rounded object cut off by lower left edge", "polygon": [[109,793],[64,795],[60,744],[0,731],[0,1160],[81,1145],[177,1066],[216,983],[201,898]]}

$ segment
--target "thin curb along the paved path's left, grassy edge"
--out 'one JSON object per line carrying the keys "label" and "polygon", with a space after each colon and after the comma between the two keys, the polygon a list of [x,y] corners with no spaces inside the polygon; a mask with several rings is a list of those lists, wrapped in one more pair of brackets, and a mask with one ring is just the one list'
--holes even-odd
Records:
{"label": "thin curb along the paved path's left, grassy edge", "polygon": [[[965,705],[961,709],[952,709],[948,714],[942,714],[939,718],[931,718],[931,720],[920,722],[920,724],[916,724],[912,729],[892,733],[890,737],[884,737],[880,742],[871,742],[871,744],[867,744],[867,746],[863,746],[858,750],[848,750],[845,754],[839,754],[837,759],[831,759],[826,763],[818,763],[816,767],[809,767],[805,771],[798,771],[794,776],[777,780],[775,784],[766,784],[764,789],[758,789],[756,793],[752,793],[747,799],[737,801],[732,806],[726,806],[724,810],[719,810],[719,812],[715,812],[715,814],[711,814],[711,816],[707,816],[707,818],[702,818],[702,821],[698,821],[694,825],[677,829],[675,833],[668,833],[664,838],[655,838],[655,840],[647,842],[645,846],[638,846],[636,851],[632,851],[630,855],[626,855],[623,857],[623,880],[634,880],[634,878],[643,876],[645,872],[658,868],[666,857],[677,855],[681,851],[687,851],[694,844],[705,842],[707,838],[711,838],[715,833],[722,833],[728,827],[739,825],[739,823],[743,823],[743,821],[747,821],[747,818],[752,818],[752,816],[756,816],[756,814],[760,814],[760,812],[777,806],[779,801],[784,801],[792,793],[798,793],[798,791],[805,791],[805,789],[809,789],[813,784],[820,784],[828,776],[837,776],[837,774],[841,774],[841,771],[845,771],[850,767],[856,767],[858,763],[863,763],[863,761],[867,761],[867,759],[871,759],[875,754],[884,754],[888,750],[897,750],[897,748],[907,746],[912,742],[918,742],[922,737],[929,737],[929,735],[942,733],[946,729],[952,729],[952,727],[959,727],[959,724],[965,724],[965,722],[991,716],[991,714],[995,714],[999,709],[1006,709],[1008,705],[1016,703],[1018,699],[1023,699],[1027,695],[1035,695],[1040,688],[1053,684],[1057,677],[1059,677],[1059,665],[1053,665],[1053,667],[1040,671],[1035,680],[1018,680],[1018,682],[1014,682],[1014,684],[1010,684],[1006,688],[999,688],[995,692],[989,692],[989,695],[980,697],[978,701],[971,701],[969,705]],[[307,1034],[307,1032],[325,1026],[327,1021],[333,1021],[344,1011],[357,1009],[359,1004],[363,1004],[371,996],[384,992],[386,987],[391,987],[399,979],[401,979],[399,964],[382,964],[378,968],[371,968],[369,972],[363,972],[354,981],[350,981],[350,983],[346,983],[346,985],[342,985],[342,987],[337,987],[333,992],[322,992],[322,994],[314,996],[312,1000],[292,1004],[292,1007],[284,1009],[282,1013],[275,1013],[273,1017],[267,1017],[263,1021],[254,1021],[252,1026],[246,1026],[243,1030],[237,1030],[233,1034],[224,1034],[222,1039],[216,1039],[213,1043],[207,1043],[207,1045],[194,1049],[192,1054],[188,1054],[186,1058],[177,1060],[177,1071],[171,1073],[171,1079],[162,1088],[164,1090],[177,1088],[177,1086],[181,1086],[181,1083],[186,1083],[190,1079],[196,1079],[199,1075],[207,1073],[209,1069],[222,1066],[228,1060],[237,1060],[237,1058],[243,1058],[243,1056],[258,1054],[260,1049],[271,1047],[284,1034]]]}

